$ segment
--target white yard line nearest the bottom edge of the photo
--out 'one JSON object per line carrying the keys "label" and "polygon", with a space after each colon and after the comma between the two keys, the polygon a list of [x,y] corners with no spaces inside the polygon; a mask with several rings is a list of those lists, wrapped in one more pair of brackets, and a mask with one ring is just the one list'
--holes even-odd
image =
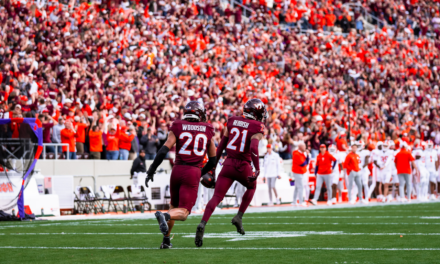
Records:
{"label": "white yard line nearest the bottom edge of the photo", "polygon": [[[24,247],[0,246],[0,249],[66,249],[66,250],[159,250],[158,247]],[[275,248],[275,247],[174,247],[172,250],[328,250],[328,251],[440,251],[440,248]]]}

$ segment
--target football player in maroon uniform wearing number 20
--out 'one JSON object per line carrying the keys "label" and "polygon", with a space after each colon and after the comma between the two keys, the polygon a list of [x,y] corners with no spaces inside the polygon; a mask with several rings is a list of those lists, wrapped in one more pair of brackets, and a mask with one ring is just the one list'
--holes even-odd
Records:
{"label": "football player in maroon uniform wearing number 20", "polygon": [[[183,119],[174,121],[167,141],[147,171],[145,185],[148,187],[148,182],[153,181],[153,175],[168,151],[176,144],[176,160],[170,178],[170,210],[167,213],[155,213],[160,231],[164,235],[161,249],[172,247],[170,233],[174,221],[186,220],[197,199],[200,177],[216,164],[215,144],[212,138],[214,127],[205,121],[205,108],[197,101],[187,103]],[[208,162],[201,169],[206,154]]]}

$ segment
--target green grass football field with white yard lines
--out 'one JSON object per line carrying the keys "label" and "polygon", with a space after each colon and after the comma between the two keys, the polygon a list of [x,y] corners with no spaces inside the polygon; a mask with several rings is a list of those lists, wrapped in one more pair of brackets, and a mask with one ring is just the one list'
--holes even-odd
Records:
{"label": "green grass football field with white yard lines", "polygon": [[332,208],[176,223],[159,250],[155,219],[0,223],[0,263],[440,263],[440,203]]}

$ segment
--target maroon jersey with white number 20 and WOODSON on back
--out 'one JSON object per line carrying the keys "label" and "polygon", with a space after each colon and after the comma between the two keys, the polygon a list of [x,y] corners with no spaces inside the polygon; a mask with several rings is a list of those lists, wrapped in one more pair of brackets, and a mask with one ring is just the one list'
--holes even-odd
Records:
{"label": "maroon jersey with white number 20 and WOODSON on back", "polygon": [[176,136],[176,165],[201,167],[214,127],[204,122],[176,120],[170,128]]}

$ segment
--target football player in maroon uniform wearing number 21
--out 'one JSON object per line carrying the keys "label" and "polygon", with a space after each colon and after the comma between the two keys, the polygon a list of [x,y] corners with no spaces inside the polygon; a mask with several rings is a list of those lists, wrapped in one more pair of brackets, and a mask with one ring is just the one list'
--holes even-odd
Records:
{"label": "football player in maroon uniform wearing number 21", "polygon": [[[260,174],[258,143],[263,138],[263,119],[267,116],[266,106],[260,99],[251,99],[243,108],[243,116],[229,118],[223,137],[217,147],[217,159],[226,149],[228,155],[223,163],[223,168],[218,175],[215,184],[214,196],[206,206],[202,221],[197,226],[195,243],[197,247],[203,245],[203,234],[215,207],[223,200],[226,192],[234,181],[238,181],[247,188],[237,215],[231,223],[237,228],[237,232],[244,235],[242,217],[252,198],[257,185],[257,177]],[[251,162],[255,172],[252,172]]]}

